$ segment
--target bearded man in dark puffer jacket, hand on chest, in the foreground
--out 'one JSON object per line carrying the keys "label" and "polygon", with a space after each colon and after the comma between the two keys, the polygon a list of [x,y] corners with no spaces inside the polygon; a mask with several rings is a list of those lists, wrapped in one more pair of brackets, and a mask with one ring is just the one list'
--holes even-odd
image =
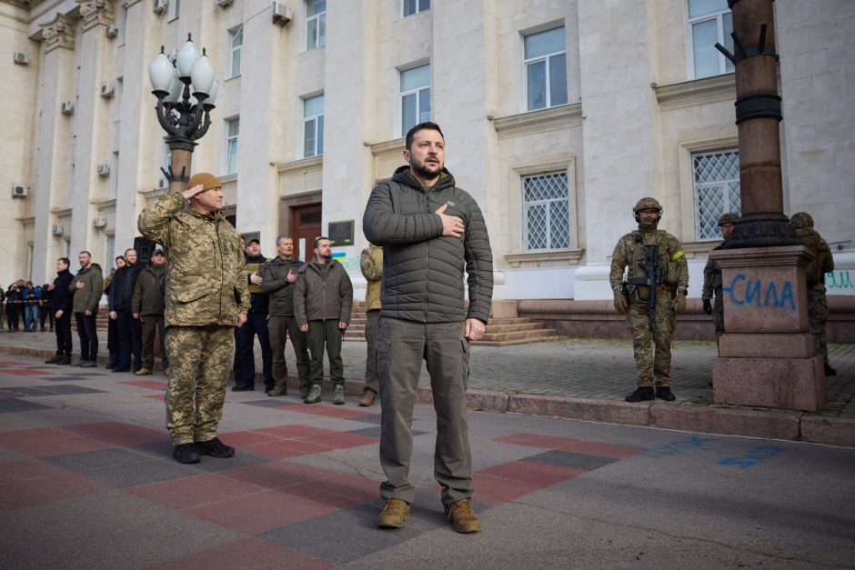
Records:
{"label": "bearded man in dark puffer jacket, hand on chest, in the foreground", "polygon": [[[380,385],[380,485],[386,506],[378,526],[407,523],[416,496],[407,481],[421,361],[428,363],[437,446],[434,476],[446,517],[459,533],[480,530],[472,509],[472,456],[466,422],[469,342],[484,334],[493,295],[493,255],[484,216],[444,167],[439,125],[407,133],[404,160],[368,198],[362,228],[383,246],[383,293],[377,331]],[[468,275],[468,309],[463,270]]]}

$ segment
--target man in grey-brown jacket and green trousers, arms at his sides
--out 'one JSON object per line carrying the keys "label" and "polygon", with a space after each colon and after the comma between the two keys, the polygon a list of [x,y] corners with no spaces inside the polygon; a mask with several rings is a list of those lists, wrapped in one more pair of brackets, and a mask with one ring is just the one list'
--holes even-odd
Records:
{"label": "man in grey-brown jacket and green trousers, arms at his sides", "polygon": [[308,333],[309,392],[307,404],[320,402],[324,380],[324,347],[329,358],[329,378],[335,387],[333,404],[345,403],[345,369],[341,361],[341,340],[350,324],[353,309],[353,284],[344,266],[332,258],[331,242],[321,235],[315,238],[315,258],[297,271],[294,287],[294,317]]}

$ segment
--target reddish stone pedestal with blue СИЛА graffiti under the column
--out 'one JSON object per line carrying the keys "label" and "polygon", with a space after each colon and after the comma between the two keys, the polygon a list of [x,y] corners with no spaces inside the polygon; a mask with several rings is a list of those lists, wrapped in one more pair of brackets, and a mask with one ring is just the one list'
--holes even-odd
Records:
{"label": "reddish stone pedestal with blue \u0421\u0418\u041b\u0410 graffiti under the column", "polygon": [[724,329],[712,361],[716,404],[815,412],[825,369],[808,320],[803,245],[719,249]]}

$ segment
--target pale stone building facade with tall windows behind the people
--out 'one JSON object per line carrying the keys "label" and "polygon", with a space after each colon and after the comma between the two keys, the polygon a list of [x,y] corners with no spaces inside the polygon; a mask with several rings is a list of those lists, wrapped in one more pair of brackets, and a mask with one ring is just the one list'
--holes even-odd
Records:
{"label": "pale stone building facade with tall windows behind the people", "polygon": [[[855,295],[855,3],[775,9],[785,213],[814,216],[830,293]],[[0,23],[2,284],[133,244],[168,162],[147,66],[188,33],[219,81],[194,170],[267,255],[281,233],[304,253],[333,234],[357,285],[367,196],[428,117],[487,217],[497,298],[610,298],[642,195],[698,296],[714,220],[739,207],[734,77],[711,46],[725,0],[2,0]]]}

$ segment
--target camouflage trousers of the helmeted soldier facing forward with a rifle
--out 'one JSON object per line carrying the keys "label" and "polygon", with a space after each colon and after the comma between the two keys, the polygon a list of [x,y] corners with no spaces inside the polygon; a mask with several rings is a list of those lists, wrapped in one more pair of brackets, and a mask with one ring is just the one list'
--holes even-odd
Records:
{"label": "camouflage trousers of the helmeted soldier facing forward with a rifle", "polygon": [[658,299],[650,330],[647,306],[629,305],[627,324],[632,333],[635,365],[639,371],[639,386],[671,385],[671,336],[674,335],[675,315],[670,295]]}

